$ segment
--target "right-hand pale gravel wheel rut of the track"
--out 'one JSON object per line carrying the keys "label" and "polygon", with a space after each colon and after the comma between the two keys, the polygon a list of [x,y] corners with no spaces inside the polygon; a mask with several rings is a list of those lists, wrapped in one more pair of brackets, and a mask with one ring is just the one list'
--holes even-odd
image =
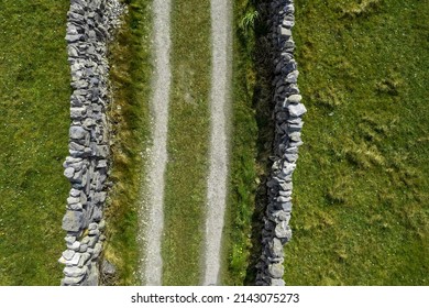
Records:
{"label": "right-hand pale gravel wheel rut of the track", "polygon": [[231,68],[231,3],[211,0],[212,72],[210,170],[207,190],[204,285],[218,285],[228,177],[228,113]]}

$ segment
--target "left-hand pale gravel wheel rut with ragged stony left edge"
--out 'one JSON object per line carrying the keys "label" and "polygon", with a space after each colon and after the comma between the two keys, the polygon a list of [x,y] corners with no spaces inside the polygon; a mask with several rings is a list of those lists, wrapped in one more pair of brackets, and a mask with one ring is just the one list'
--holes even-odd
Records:
{"label": "left-hand pale gravel wheel rut with ragged stony left edge", "polygon": [[[146,196],[142,201],[142,212],[148,212],[145,230],[145,260],[143,260],[142,280],[146,285],[162,285],[163,260],[161,255],[164,228],[164,175],[167,164],[168,103],[170,89],[170,0],[153,2],[155,75],[152,97],[152,147],[150,150]],[[147,219],[146,219],[147,220]]]}

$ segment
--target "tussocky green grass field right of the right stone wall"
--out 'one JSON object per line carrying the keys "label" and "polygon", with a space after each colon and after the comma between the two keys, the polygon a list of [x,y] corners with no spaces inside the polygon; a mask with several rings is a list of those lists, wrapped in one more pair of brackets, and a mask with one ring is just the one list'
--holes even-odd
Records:
{"label": "tussocky green grass field right of the right stone wall", "polygon": [[428,285],[429,2],[296,1],[292,285]]}

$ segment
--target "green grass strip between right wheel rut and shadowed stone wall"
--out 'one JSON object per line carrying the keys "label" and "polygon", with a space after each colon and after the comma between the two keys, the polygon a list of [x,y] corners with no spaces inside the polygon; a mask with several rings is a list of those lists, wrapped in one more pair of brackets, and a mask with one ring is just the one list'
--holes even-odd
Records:
{"label": "green grass strip between right wheel rut and shadowed stone wall", "polygon": [[235,1],[233,15],[233,132],[222,280],[224,285],[253,285],[254,265],[261,254],[264,178],[272,134],[267,121],[270,74],[262,40],[266,29],[257,1]]}

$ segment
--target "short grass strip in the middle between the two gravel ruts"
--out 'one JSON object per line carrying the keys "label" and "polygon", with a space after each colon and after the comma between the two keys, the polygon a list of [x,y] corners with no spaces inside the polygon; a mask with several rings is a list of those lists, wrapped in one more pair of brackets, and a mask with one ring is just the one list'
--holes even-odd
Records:
{"label": "short grass strip in the middle between the two gravel ruts", "polygon": [[210,1],[172,8],[163,284],[199,285],[209,146]]}

